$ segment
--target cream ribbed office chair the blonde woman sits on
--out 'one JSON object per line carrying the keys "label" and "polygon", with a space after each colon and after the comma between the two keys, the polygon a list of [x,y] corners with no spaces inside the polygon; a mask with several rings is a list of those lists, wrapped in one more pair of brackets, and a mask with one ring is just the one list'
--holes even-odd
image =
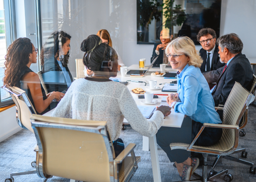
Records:
{"label": "cream ribbed office chair the blonde woman sits on", "polygon": [[[249,102],[253,95],[248,92],[244,87],[241,86],[239,83],[235,83],[234,87],[232,88],[229,97],[225,103],[223,108],[223,123],[222,124],[211,124],[211,123],[204,123],[201,127],[200,131],[196,135],[193,142],[189,145],[186,143],[171,143],[170,147],[172,150],[174,149],[184,149],[187,151],[193,151],[196,153],[202,153],[204,157],[204,164],[203,164],[203,175],[202,177],[198,174],[193,174],[194,177],[198,177],[197,181],[212,181],[222,174],[224,176],[225,181],[231,181],[233,179],[231,174],[228,174],[228,170],[222,170],[219,173],[212,173],[210,176],[207,177],[207,156],[208,154],[218,155],[218,156],[226,156],[233,154],[238,146],[239,140],[239,122],[249,105]],[[202,133],[205,127],[217,127],[223,128],[223,134],[218,143],[208,147],[202,146],[195,146],[195,142],[199,135]],[[253,166],[253,170],[255,171],[255,167]],[[193,181],[193,180],[191,180]]]}

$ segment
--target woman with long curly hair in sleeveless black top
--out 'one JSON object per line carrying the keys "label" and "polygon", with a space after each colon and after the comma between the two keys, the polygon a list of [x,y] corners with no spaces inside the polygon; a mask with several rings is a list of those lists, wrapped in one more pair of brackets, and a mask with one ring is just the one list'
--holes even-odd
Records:
{"label": "woman with long curly hair in sleeveless black top", "polygon": [[[6,86],[19,87],[26,91],[30,102],[37,114],[44,114],[50,110],[53,99],[60,100],[65,94],[50,92],[45,94],[39,76],[30,70],[32,63],[37,63],[38,49],[28,38],[18,38],[8,47],[5,56],[5,71],[3,82]],[[26,84],[22,81],[26,80]]]}

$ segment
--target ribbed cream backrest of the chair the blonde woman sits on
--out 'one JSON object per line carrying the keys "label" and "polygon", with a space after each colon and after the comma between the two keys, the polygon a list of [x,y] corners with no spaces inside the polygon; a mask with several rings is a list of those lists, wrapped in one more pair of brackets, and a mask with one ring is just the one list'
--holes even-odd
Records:
{"label": "ribbed cream backrest of the chair the blonde woman sits on", "polygon": [[[227,125],[237,125],[244,115],[246,108],[252,98],[252,94],[248,92],[240,83],[236,82],[226,100],[223,109],[223,123]],[[223,128],[221,143],[226,149],[235,149],[238,146],[239,130]]]}

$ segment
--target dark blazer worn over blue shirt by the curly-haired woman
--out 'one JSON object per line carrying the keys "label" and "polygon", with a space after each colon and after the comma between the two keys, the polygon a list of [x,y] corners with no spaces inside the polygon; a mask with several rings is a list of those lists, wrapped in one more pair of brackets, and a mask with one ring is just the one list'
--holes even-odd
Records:
{"label": "dark blazer worn over blue shirt by the curly-haired woman", "polygon": [[[72,78],[72,75],[71,75],[68,67],[65,67],[65,68],[68,72],[71,82],[73,82],[73,78]],[[65,76],[59,66],[59,63],[57,62],[57,60],[55,58],[49,58],[49,59],[45,60],[44,65],[42,67],[42,73],[45,73],[48,71],[61,71],[60,76],[65,78]],[[47,89],[48,93],[53,92],[53,91],[62,92],[62,91],[68,90],[68,85],[67,84],[46,84],[46,89]]]}

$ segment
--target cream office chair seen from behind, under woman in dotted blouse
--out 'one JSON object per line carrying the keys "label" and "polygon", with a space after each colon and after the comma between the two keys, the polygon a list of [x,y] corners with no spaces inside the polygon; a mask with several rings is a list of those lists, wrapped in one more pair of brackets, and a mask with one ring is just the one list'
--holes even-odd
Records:
{"label": "cream office chair seen from behind, under woman in dotted blouse", "polygon": [[[138,169],[130,143],[116,158],[106,122],[32,115],[37,174],[86,182],[128,182]],[[131,154],[131,157],[127,155]],[[118,171],[118,163],[123,163]],[[74,181],[73,180],[73,181]]]}

